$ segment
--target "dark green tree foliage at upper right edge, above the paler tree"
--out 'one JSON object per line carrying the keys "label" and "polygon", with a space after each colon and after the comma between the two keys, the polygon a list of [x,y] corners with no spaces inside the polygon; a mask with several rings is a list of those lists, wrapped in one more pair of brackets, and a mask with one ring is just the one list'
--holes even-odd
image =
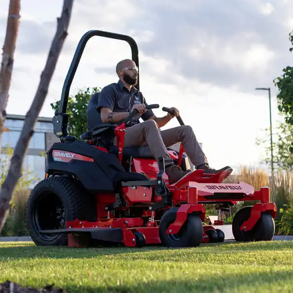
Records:
{"label": "dark green tree foliage at upper right edge, above the paler tree", "polygon": [[[289,33],[289,40],[293,51],[293,31]],[[277,100],[278,110],[285,114],[285,122],[293,125],[293,67],[287,66],[282,70],[283,74],[274,80],[275,86],[278,89]]]}

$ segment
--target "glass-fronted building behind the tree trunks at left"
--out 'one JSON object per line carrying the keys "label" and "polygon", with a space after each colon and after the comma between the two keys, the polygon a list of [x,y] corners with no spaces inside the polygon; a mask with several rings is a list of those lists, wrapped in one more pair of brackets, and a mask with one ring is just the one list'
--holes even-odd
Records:
{"label": "glass-fronted building behind the tree trunks at left", "polygon": [[[9,167],[9,165],[3,166],[7,161],[8,155],[5,154],[5,147],[14,148],[19,139],[21,130],[23,128],[25,116],[22,115],[9,115],[7,114],[5,119],[5,126],[8,131],[2,133],[2,148],[1,148],[1,173],[5,172],[3,168]],[[58,138],[53,133],[53,125],[51,118],[38,117],[35,124],[34,133],[31,138],[28,151],[23,163],[24,172],[29,172],[27,176],[29,180],[33,179],[30,188],[41,179],[45,177],[46,168],[46,156],[42,155],[44,151],[47,151],[54,142],[58,142]]]}

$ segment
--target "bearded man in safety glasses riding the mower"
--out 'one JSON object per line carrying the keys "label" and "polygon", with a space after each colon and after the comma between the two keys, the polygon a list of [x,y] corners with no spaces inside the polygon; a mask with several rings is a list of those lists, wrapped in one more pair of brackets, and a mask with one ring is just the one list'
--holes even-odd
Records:
{"label": "bearded man in safety glasses riding the mower", "polygon": [[[156,160],[163,157],[165,172],[169,177],[170,184],[176,183],[191,172],[191,170],[183,171],[175,165],[167,151],[166,147],[179,142],[182,142],[186,154],[196,169],[203,169],[205,174],[217,174],[221,171],[232,172],[232,168],[229,166],[220,170],[214,170],[209,166],[208,160],[190,126],[181,125],[168,130],[159,130],[174,116],[179,117],[179,111],[176,108],[171,108],[172,111],[169,111],[166,116],[157,117],[151,109],[146,109],[146,99],[142,92],[135,88],[138,81],[138,68],[133,60],[120,61],[116,66],[116,73],[119,77],[118,83],[109,84],[102,89],[97,110],[103,123],[117,124],[121,124],[129,115],[129,112],[136,110],[138,114],[134,115],[127,125],[131,127],[126,128],[125,147],[149,146]],[[139,123],[139,118],[142,118],[145,122]],[[93,121],[96,122],[94,118]],[[97,124],[92,123],[92,126],[95,127]]]}

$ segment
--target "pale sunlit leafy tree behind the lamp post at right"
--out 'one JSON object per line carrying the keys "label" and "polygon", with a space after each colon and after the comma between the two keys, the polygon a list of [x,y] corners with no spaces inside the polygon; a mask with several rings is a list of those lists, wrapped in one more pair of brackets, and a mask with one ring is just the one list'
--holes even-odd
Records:
{"label": "pale sunlit leafy tree behind the lamp post at right", "polygon": [[[264,162],[271,163],[270,129],[264,130],[263,137],[257,139],[257,145],[264,147]],[[274,166],[282,170],[293,171],[293,125],[282,122],[277,127],[277,133],[273,139]]]}

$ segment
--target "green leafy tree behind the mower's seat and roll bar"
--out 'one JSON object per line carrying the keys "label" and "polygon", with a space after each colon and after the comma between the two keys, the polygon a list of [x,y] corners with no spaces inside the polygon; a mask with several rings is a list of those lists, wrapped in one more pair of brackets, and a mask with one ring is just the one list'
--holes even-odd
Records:
{"label": "green leafy tree behind the mower's seat and roll bar", "polygon": [[[86,88],[85,90],[78,90],[77,94],[68,98],[67,114],[68,126],[67,131],[69,135],[74,135],[78,139],[84,131],[88,130],[87,126],[87,105],[91,96],[100,92],[100,88]],[[59,109],[60,101],[50,104],[54,111]]]}

